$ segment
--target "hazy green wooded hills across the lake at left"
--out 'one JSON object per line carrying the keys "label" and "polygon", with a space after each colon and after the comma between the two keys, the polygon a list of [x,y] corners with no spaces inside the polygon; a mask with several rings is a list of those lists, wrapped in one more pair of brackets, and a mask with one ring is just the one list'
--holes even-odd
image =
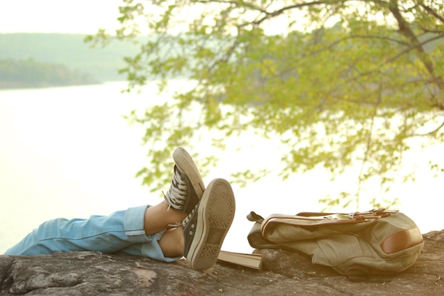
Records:
{"label": "hazy green wooded hills across the lake at left", "polygon": [[132,43],[94,47],[85,35],[0,33],[0,89],[54,87],[125,80],[118,70]]}

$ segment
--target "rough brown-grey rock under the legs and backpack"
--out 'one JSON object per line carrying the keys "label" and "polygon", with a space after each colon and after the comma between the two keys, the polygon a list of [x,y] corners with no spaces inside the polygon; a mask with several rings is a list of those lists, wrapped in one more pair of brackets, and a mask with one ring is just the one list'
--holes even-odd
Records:
{"label": "rough brown-grey rock under the legs and backpack", "polygon": [[444,230],[424,234],[418,261],[403,273],[355,283],[289,251],[261,250],[262,270],[217,263],[63,252],[0,256],[0,295],[444,295]]}

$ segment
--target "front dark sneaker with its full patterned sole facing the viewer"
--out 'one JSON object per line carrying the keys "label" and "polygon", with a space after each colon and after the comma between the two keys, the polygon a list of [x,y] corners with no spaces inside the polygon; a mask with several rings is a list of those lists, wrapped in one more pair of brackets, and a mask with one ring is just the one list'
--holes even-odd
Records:
{"label": "front dark sneaker with its full patterned sole facing the viewer", "polygon": [[201,202],[182,222],[184,257],[194,270],[211,268],[234,219],[235,199],[230,183],[210,182]]}

